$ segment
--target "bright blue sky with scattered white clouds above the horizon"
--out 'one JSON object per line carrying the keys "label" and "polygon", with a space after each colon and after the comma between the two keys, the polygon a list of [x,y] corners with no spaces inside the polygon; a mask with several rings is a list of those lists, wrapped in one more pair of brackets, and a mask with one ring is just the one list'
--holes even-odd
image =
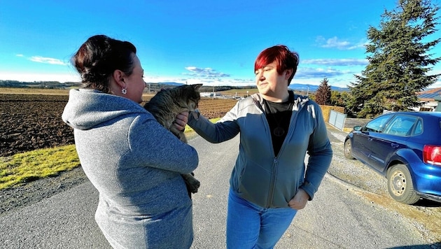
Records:
{"label": "bright blue sky with scattered white clouds above the horizon", "polygon": [[[367,29],[378,28],[395,3],[2,1],[0,80],[80,81],[71,56],[90,36],[106,34],[137,46],[146,82],[254,85],[255,57],[284,44],[300,54],[292,83],[319,85],[326,77],[346,87],[367,64]],[[430,52],[441,57],[441,44]],[[431,73],[441,73],[441,63]],[[441,87],[441,79],[430,87]]]}

